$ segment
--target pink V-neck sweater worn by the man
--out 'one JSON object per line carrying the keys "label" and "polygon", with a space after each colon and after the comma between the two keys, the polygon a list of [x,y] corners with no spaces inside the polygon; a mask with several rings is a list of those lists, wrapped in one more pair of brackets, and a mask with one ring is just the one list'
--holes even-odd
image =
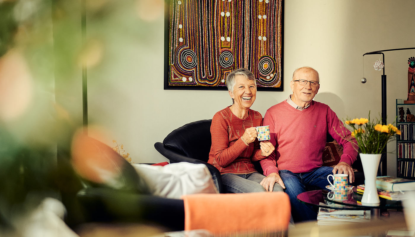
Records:
{"label": "pink V-neck sweater worn by the man", "polygon": [[263,125],[269,125],[270,142],[276,147],[260,161],[265,176],[278,170],[304,173],[321,167],[327,132],[344,148],[340,161],[352,165],[356,160],[356,140],[348,142],[337,134],[350,135],[350,131],[323,103],[313,100],[310,107],[297,110],[284,100],[266,111]]}

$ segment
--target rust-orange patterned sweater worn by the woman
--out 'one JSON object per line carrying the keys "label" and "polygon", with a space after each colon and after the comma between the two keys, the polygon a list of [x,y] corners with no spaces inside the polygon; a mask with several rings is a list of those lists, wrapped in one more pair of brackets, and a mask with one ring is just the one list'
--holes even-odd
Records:
{"label": "rust-orange patterned sweater worn by the woman", "polygon": [[[230,106],[229,106],[230,107]],[[254,173],[252,161],[264,159],[259,149],[259,141],[247,145],[241,137],[245,129],[258,127],[262,123],[262,115],[249,109],[246,119],[235,116],[229,107],[217,112],[212,119],[210,133],[212,147],[210,147],[207,163],[215,166],[220,173]]]}

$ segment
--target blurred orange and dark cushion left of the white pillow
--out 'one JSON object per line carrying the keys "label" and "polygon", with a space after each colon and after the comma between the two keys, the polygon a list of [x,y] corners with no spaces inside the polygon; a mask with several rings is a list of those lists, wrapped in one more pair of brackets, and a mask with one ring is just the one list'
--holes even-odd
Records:
{"label": "blurred orange and dark cushion left of the white pillow", "polygon": [[89,185],[149,193],[131,164],[106,144],[78,133],[71,151],[73,168]]}

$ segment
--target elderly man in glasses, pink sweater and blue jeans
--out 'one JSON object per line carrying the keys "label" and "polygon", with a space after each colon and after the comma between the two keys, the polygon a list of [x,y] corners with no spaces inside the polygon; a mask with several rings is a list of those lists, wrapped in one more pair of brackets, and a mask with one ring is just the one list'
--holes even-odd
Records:
{"label": "elderly man in glasses, pink sweater and blue jeans", "polygon": [[[312,100],[320,88],[316,70],[310,67],[296,69],[290,87],[293,94],[265,113],[263,125],[269,125],[275,151],[260,161],[266,176],[261,185],[267,191],[272,191],[274,183],[285,188],[290,196],[294,221],[298,222],[317,217],[312,208],[297,200],[297,195],[305,192],[306,186],[324,189],[329,185],[327,176],[330,173],[345,173],[349,175],[349,183],[354,181],[351,165],[356,160],[357,143],[339,136],[338,133],[349,136],[350,132],[328,105]],[[344,148],[340,162],[334,168],[322,166],[327,133]]]}

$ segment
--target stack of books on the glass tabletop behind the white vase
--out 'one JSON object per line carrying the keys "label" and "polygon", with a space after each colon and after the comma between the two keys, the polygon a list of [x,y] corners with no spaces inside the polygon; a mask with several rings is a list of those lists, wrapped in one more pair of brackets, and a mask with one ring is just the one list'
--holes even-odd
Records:
{"label": "stack of books on the glass tabletop behind the white vase", "polygon": [[[358,194],[364,193],[364,184],[358,185],[356,188]],[[415,190],[415,181],[393,176],[378,176],[376,177],[376,188],[381,198],[403,200],[406,198],[405,191]]]}

